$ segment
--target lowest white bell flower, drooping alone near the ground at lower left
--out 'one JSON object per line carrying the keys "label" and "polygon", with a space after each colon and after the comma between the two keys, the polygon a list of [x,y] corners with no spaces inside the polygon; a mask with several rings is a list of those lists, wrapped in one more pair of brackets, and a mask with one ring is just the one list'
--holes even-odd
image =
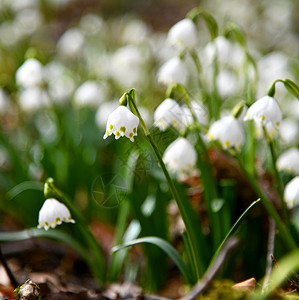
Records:
{"label": "lowest white bell flower, drooping alone near the ground at lower left", "polygon": [[55,228],[62,222],[75,223],[68,208],[54,198],[47,199],[39,211],[38,228],[44,227],[48,230]]}

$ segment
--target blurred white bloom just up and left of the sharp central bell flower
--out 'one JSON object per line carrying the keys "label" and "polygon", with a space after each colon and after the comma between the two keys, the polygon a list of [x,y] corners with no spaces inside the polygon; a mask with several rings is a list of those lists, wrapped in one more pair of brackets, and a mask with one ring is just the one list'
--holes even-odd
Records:
{"label": "blurred white bloom just up and left of the sharp central bell flower", "polygon": [[86,81],[76,90],[74,102],[79,106],[98,107],[105,99],[105,91],[95,81]]}

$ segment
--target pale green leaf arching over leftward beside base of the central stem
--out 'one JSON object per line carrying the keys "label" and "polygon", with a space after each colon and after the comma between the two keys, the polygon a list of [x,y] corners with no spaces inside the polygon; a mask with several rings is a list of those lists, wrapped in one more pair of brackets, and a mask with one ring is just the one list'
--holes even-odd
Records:
{"label": "pale green leaf arching over leftward beside base of the central stem", "polygon": [[148,237],[143,237],[140,239],[136,239],[127,243],[124,243],[122,245],[115,246],[111,249],[111,252],[117,252],[120,249],[123,249],[125,247],[130,247],[133,245],[141,244],[141,243],[148,243],[155,245],[162,249],[177,265],[179,270],[181,271],[182,275],[185,277],[186,281],[188,283],[193,282],[191,274],[189,273],[188,267],[186,266],[185,262],[181,258],[180,254],[176,251],[174,247],[172,247],[168,242],[165,240],[154,237],[154,236],[148,236]]}

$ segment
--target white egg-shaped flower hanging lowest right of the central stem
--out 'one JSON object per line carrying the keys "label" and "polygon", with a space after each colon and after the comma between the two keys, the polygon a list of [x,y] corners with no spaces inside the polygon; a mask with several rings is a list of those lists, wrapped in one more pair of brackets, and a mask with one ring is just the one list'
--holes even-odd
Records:
{"label": "white egg-shaped flower hanging lowest right of the central stem", "polygon": [[196,151],[185,138],[178,138],[164,152],[163,161],[173,173],[190,173],[196,165]]}

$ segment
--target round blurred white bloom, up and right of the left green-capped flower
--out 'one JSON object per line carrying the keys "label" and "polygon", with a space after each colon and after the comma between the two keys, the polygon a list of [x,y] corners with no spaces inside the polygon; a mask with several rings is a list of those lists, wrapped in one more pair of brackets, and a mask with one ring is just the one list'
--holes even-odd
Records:
{"label": "round blurred white bloom, up and right of the left green-capped flower", "polygon": [[67,57],[76,57],[84,44],[84,36],[79,29],[68,29],[58,40],[58,51]]}

